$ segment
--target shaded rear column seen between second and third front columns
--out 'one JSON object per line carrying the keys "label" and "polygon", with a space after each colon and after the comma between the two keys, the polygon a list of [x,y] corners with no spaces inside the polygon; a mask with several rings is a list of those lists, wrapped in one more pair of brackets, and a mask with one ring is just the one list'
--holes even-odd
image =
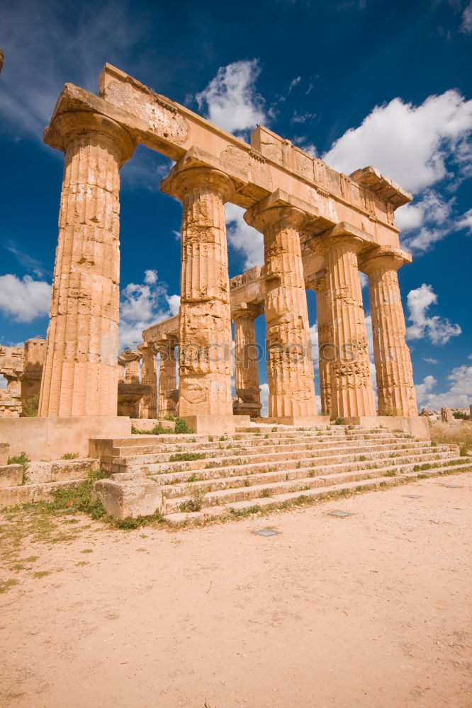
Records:
{"label": "shaded rear column seen between second and third front columns", "polygon": [[233,411],[240,416],[260,416],[258,348],[254,320],[263,312],[262,305],[246,304],[232,310],[235,321],[235,389]]}

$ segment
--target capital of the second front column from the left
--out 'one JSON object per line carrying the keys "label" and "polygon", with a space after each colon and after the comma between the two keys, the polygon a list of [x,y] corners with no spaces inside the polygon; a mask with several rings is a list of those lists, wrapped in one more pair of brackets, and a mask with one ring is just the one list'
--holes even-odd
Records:
{"label": "capital of the second front column from the left", "polygon": [[162,180],[161,190],[165,194],[183,201],[193,189],[206,188],[218,194],[223,202],[230,200],[235,193],[235,183],[220,170],[211,167],[190,167],[181,169],[176,164],[169,176]]}

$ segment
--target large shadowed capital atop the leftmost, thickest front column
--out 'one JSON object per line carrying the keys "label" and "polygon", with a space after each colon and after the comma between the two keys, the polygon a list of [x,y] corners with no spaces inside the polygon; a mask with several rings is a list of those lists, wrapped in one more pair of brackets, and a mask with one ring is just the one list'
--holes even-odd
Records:
{"label": "large shadowed capital atop the leftmost, thickest front column", "polygon": [[66,152],[72,141],[86,136],[93,139],[94,134],[97,139],[109,142],[117,153],[120,166],[128,161],[135,151],[137,139],[125,128],[101,113],[85,110],[71,110],[54,115],[44,131],[43,139],[47,145]]}

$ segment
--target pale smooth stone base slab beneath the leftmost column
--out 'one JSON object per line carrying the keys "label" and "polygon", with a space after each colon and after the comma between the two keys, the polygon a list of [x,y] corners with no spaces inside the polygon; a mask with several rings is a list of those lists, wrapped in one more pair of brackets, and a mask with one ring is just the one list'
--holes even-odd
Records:
{"label": "pale smooth stone base slab beneath the leftmost column", "polygon": [[0,438],[10,443],[10,455],[31,460],[60,459],[66,452],[89,455],[89,438],[122,438],[131,434],[130,418],[0,418]]}

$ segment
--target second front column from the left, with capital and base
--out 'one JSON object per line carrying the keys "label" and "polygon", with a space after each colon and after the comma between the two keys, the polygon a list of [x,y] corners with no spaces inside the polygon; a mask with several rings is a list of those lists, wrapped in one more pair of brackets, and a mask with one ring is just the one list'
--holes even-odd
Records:
{"label": "second front column from the left, with capital and base", "polygon": [[[162,190],[179,198],[182,270],[179,325],[179,416],[208,432],[208,416],[232,416],[231,314],[227,272],[225,201],[234,185],[225,173],[177,164]],[[223,421],[223,428],[232,424]],[[234,423],[233,423],[234,425]],[[207,427],[206,427],[207,426]],[[210,426],[210,427],[208,427]]]}

